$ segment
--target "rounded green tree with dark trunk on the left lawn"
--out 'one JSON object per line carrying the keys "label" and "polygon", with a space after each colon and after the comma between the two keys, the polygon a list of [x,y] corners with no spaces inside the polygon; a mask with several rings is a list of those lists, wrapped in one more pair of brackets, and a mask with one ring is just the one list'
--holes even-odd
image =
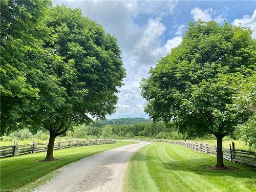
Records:
{"label": "rounded green tree with dark trunk on the left lawn", "polygon": [[45,47],[63,61],[49,66],[49,70],[57,74],[65,91],[58,107],[52,111],[42,107],[37,112],[50,132],[46,159],[52,159],[56,136],[65,133],[71,123],[88,123],[91,117],[104,118],[114,113],[125,70],[117,39],[83,17],[80,9],[53,7],[45,23],[51,30]]}

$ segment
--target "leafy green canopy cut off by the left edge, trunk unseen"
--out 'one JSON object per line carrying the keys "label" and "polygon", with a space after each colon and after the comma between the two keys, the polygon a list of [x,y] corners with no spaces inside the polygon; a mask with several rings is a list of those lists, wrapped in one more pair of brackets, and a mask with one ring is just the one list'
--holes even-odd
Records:
{"label": "leafy green canopy cut off by the left edge, trunk unseen", "polygon": [[38,110],[38,84],[50,87],[44,69],[54,55],[42,48],[47,37],[42,20],[50,5],[1,1],[1,134],[31,120]]}

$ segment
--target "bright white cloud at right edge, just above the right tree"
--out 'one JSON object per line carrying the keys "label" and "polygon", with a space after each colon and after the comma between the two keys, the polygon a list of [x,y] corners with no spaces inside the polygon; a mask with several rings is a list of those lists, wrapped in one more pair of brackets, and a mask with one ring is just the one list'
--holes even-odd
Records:
{"label": "bright white cloud at right edge, just above the right tree", "polygon": [[241,25],[243,27],[250,27],[252,30],[252,38],[256,38],[256,9],[251,16],[244,15],[241,19],[234,19],[232,24],[236,26]]}

